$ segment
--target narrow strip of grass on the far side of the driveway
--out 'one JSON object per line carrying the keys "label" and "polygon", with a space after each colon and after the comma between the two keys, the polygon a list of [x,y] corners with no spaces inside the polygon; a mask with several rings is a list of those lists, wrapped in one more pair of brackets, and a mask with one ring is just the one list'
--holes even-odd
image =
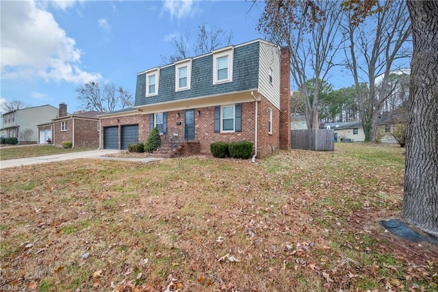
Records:
{"label": "narrow strip of grass on the far side of the driveway", "polygon": [[60,148],[53,145],[35,146],[14,146],[10,148],[0,148],[0,160],[17,159],[25,157],[36,157],[44,155],[55,155],[70,152],[81,152],[96,150],[96,148]]}

